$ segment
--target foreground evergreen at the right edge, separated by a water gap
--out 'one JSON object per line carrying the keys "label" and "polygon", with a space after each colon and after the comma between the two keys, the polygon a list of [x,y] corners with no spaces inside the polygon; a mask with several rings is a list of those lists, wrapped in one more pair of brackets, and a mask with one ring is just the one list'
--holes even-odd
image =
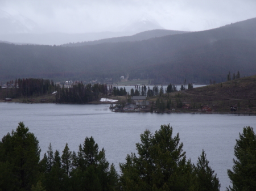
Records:
{"label": "foreground evergreen at the right edge, separated by a water gap", "polygon": [[227,190],[256,190],[256,135],[250,126],[243,128],[234,146],[233,171],[228,169],[232,188]]}

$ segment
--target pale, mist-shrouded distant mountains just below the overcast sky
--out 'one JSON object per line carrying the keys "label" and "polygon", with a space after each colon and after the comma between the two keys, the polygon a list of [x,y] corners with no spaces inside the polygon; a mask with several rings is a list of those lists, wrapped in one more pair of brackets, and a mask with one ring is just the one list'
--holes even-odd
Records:
{"label": "pale, mist-shrouded distant mountains just below the overcast sky", "polygon": [[11,16],[0,10],[0,40],[14,44],[61,45],[81,43],[113,37],[131,36],[143,31],[163,29],[159,23],[148,15],[130,20],[125,26],[113,28],[112,31],[90,33],[45,33],[43,29],[22,15]]}

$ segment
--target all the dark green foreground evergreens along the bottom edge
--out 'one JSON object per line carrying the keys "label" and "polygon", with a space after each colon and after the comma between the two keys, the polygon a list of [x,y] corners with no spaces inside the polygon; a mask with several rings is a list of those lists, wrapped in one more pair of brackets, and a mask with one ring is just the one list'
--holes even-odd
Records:
{"label": "all the dark green foreground evergreens along the bottom edge", "polygon": [[[255,190],[253,128],[243,128],[236,142],[227,190]],[[62,152],[53,151],[49,143],[40,159],[38,139],[19,122],[0,141],[0,190],[220,190],[205,151],[192,164],[170,125],[161,125],[154,134],[144,131],[136,148],[137,155],[128,154],[126,162],[119,163],[119,174],[93,137],[85,137],[77,152],[70,151],[68,143]]]}

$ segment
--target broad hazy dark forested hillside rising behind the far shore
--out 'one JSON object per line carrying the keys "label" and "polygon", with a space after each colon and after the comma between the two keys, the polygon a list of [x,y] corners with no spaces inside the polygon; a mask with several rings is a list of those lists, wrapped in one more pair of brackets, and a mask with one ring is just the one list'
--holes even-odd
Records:
{"label": "broad hazy dark forested hillside rising behind the far shore", "polygon": [[256,73],[256,18],[208,31],[155,37],[143,41],[78,47],[0,43],[0,80],[117,81],[152,79],[154,83],[209,80],[223,82],[226,74]]}

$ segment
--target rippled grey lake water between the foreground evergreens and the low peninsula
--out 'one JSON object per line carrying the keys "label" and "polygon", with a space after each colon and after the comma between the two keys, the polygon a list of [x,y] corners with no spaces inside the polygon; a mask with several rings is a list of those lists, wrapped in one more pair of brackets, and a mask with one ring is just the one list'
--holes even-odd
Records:
{"label": "rippled grey lake water between the foreground evergreens and the low peninsula", "polygon": [[255,116],[238,114],[192,113],[113,113],[109,104],[20,104],[0,103],[0,137],[15,130],[19,121],[39,140],[41,157],[51,142],[53,150],[64,150],[67,142],[71,151],[77,151],[85,137],[93,136],[99,148],[106,150],[106,159],[125,162],[127,154],[136,152],[139,135],[149,129],[152,133],[160,125],[170,124],[174,135],[179,133],[183,150],[192,163],[201,151],[207,154],[209,165],[217,173],[221,190],[229,185],[227,169],[232,169],[234,145],[244,126],[256,129]]}

